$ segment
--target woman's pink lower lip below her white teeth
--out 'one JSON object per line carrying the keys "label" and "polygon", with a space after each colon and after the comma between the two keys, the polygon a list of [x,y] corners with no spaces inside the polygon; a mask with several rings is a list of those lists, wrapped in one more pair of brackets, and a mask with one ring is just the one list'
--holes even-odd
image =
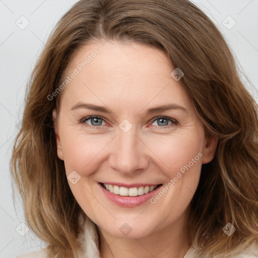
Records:
{"label": "woman's pink lower lip below her white teeth", "polygon": [[106,190],[101,183],[99,183],[100,188],[102,189],[104,195],[113,203],[123,206],[123,207],[136,207],[140,206],[146,202],[148,202],[153,196],[156,195],[156,192],[159,191],[160,186],[156,187],[153,191],[145,193],[142,196],[136,196],[136,197],[131,197],[131,196],[119,196],[115,195],[114,193]]}

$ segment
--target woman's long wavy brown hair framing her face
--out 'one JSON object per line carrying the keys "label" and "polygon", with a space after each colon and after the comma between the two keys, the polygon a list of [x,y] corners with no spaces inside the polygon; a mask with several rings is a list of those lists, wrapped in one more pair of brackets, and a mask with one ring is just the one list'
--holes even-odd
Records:
{"label": "woman's long wavy brown hair framing her face", "polygon": [[[187,0],[81,0],[56,24],[30,76],[11,173],[25,219],[56,257],[76,257],[86,218],[57,156],[52,110],[76,51],[94,40],[137,42],[161,49],[175,68],[208,136],[218,137],[191,201],[190,243],[209,257],[233,254],[258,239],[257,104],[213,22]],[[14,187],[14,186],[13,186]],[[227,236],[223,227],[236,231]]]}

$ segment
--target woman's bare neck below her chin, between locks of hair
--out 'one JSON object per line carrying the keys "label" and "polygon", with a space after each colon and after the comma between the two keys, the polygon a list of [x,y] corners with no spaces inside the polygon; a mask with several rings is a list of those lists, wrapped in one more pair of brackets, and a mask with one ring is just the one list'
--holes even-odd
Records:
{"label": "woman's bare neck below her chin, between locks of hair", "polygon": [[141,238],[119,238],[98,228],[101,258],[183,258],[190,247],[187,215],[185,211],[169,226]]}

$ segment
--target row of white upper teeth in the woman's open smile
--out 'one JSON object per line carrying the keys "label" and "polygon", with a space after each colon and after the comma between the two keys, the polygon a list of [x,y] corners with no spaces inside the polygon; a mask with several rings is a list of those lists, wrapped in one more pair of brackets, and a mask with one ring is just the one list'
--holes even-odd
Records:
{"label": "row of white upper teeth in the woman's open smile", "polygon": [[120,195],[120,196],[142,196],[145,195],[148,192],[153,191],[158,185],[151,185],[151,186],[140,186],[140,187],[132,187],[132,188],[126,188],[126,187],[119,187],[117,185],[112,184],[103,184],[104,187],[114,193],[114,195]]}

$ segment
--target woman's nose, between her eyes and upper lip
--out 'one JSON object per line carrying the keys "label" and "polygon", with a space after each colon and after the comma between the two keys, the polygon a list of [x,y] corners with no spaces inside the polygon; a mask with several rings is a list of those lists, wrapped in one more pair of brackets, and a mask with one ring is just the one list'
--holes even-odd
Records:
{"label": "woman's nose, between her eyes and upper lip", "polygon": [[127,133],[119,129],[118,136],[110,147],[112,154],[109,157],[109,164],[121,174],[131,175],[148,167],[148,148],[134,127]]}

